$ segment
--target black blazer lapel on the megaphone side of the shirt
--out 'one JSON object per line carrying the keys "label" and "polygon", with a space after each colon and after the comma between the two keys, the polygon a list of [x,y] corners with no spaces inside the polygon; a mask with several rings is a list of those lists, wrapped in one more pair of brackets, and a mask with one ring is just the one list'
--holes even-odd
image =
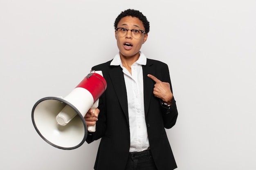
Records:
{"label": "black blazer lapel on the megaphone side of the shirt", "polygon": [[115,93],[117,95],[121,108],[126,116],[127,123],[129,124],[128,102],[127,102],[126,85],[124,82],[124,73],[120,66],[111,66],[111,67],[112,69],[109,72],[109,76],[114,86]]}

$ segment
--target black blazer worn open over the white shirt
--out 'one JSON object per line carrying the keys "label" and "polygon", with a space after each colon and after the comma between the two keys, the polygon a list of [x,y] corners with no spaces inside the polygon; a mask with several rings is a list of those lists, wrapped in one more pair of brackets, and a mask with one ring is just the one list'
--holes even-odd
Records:
{"label": "black blazer worn open over the white shirt", "polygon": [[[96,132],[89,132],[86,139],[89,144],[101,138],[95,170],[124,170],[130,148],[124,73],[120,66],[110,66],[111,61],[92,68],[95,71],[101,70],[107,82],[106,91],[99,99],[100,113]],[[176,123],[178,115],[176,103],[173,99],[171,108],[164,108],[160,99],[153,95],[155,82],[147,77],[147,74],[151,74],[162,82],[171,84],[168,66],[157,60],[147,59],[146,65],[142,68],[145,117],[152,156],[158,170],[173,170],[177,166],[165,128],[171,128]]]}

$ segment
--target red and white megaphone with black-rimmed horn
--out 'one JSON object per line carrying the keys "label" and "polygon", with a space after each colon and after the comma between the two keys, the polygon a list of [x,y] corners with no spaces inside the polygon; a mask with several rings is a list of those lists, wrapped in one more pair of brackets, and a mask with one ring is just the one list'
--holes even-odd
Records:
{"label": "red and white megaphone with black-rimmed horn", "polygon": [[84,116],[90,108],[95,109],[99,97],[107,88],[101,71],[90,73],[66,97],[45,97],[32,109],[34,128],[48,144],[71,150],[80,147],[89,131]]}

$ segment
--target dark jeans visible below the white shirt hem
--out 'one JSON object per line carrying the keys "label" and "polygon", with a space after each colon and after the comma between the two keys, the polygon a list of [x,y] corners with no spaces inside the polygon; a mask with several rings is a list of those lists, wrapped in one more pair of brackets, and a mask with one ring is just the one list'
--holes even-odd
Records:
{"label": "dark jeans visible below the white shirt hem", "polygon": [[150,149],[130,152],[125,170],[157,170]]}

